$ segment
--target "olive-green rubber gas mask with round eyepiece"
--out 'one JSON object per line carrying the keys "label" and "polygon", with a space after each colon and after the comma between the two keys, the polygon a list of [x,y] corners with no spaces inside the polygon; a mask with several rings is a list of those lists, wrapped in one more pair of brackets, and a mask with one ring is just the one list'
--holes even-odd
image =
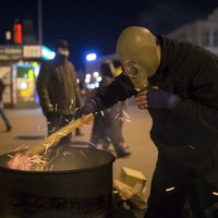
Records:
{"label": "olive-green rubber gas mask with round eyepiece", "polygon": [[160,63],[156,37],[145,27],[130,26],[119,36],[117,53],[136,90],[147,88],[147,78]]}

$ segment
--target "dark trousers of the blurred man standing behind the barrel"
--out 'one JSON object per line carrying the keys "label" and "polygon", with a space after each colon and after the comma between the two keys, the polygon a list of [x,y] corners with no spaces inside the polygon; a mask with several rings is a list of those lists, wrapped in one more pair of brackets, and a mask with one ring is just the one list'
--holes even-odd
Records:
{"label": "dark trousers of the blurred man standing behind the barrel", "polygon": [[[52,114],[47,117],[48,135],[51,135],[59,129],[68,125],[73,120],[73,116]],[[60,145],[70,145],[72,134],[68,134],[59,142]]]}

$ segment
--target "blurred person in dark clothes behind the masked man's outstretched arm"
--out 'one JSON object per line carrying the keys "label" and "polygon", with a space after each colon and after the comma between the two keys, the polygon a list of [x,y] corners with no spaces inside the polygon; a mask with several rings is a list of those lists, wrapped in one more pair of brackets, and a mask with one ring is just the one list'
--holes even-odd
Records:
{"label": "blurred person in dark clothes behind the masked man's outstretched arm", "polygon": [[[106,61],[100,65],[100,73],[102,80],[99,88],[110,84],[113,81],[112,62]],[[125,104],[119,102],[112,108],[102,110],[95,116],[90,142],[97,145],[99,142],[102,143],[102,148],[108,149],[109,145],[112,144],[117,157],[126,157],[131,155],[130,152],[124,147],[124,140],[122,134],[123,123],[123,109]]]}

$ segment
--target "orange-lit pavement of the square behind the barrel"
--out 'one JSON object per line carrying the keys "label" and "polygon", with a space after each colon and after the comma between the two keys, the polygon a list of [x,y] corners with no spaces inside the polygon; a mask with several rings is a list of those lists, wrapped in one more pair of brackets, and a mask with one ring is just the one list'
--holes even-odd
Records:
{"label": "orange-lit pavement of the square behind the barrel", "polygon": [[[0,121],[0,155],[10,153],[23,145],[33,146],[47,135],[46,119],[40,107],[31,109],[5,110],[13,129],[5,132],[3,121]],[[113,164],[113,179],[119,179],[122,167],[141,171],[147,179],[147,195],[149,194],[152,174],[156,164],[157,150],[149,138],[152,119],[146,110],[140,110],[129,104],[123,125],[123,136],[132,153],[126,158],[117,158]],[[85,145],[90,138],[92,124],[84,125],[83,136],[73,137],[73,145]]]}

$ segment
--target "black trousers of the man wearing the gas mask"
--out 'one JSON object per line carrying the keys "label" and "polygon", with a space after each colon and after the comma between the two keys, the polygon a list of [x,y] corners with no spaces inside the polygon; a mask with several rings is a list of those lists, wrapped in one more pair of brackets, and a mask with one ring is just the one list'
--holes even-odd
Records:
{"label": "black trousers of the man wearing the gas mask", "polygon": [[194,218],[218,218],[217,170],[206,164],[202,175],[195,174],[187,167],[190,157],[182,160],[181,154],[177,153],[174,157],[159,154],[144,217],[182,218],[184,205],[189,202]]}

